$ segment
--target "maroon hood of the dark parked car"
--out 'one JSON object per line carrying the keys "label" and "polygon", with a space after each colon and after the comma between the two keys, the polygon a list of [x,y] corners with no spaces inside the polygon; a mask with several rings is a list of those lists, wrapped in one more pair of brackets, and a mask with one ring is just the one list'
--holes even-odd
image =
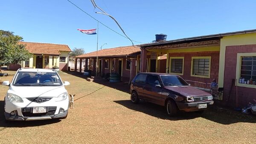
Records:
{"label": "maroon hood of the dark parked car", "polygon": [[174,92],[179,93],[183,96],[204,96],[204,95],[210,95],[208,92],[205,92],[203,90],[197,89],[192,86],[166,86],[166,89],[172,90]]}

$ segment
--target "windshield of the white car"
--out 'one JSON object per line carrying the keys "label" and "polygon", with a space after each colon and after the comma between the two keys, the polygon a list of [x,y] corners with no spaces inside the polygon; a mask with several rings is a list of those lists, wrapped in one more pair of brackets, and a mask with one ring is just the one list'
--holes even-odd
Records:
{"label": "windshield of the white car", "polygon": [[15,86],[61,86],[56,72],[18,72]]}

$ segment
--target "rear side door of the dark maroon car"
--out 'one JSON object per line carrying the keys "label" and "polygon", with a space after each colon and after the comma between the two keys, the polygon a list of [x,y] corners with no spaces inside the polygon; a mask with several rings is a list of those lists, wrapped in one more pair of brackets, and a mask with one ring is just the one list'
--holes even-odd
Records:
{"label": "rear side door of the dark maroon car", "polygon": [[145,83],[146,83],[146,78],[147,78],[147,74],[138,74],[135,77],[134,82],[132,83],[133,89],[135,89],[137,91],[137,94],[142,99],[145,98],[145,93],[144,93],[143,88],[144,88]]}

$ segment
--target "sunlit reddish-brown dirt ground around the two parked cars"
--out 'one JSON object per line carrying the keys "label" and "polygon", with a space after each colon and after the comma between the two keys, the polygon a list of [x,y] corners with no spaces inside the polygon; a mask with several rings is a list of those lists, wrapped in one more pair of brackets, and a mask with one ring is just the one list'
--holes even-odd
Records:
{"label": "sunlit reddish-brown dirt ground around the two parked cars", "polygon": [[[4,71],[3,71],[4,72]],[[12,80],[15,72],[8,71]],[[203,114],[181,112],[169,117],[163,107],[131,104],[128,85],[88,82],[74,73],[60,72],[75,109],[62,120],[6,123],[0,85],[0,143],[254,143],[256,116],[211,107]],[[116,88],[116,89],[115,89]]]}

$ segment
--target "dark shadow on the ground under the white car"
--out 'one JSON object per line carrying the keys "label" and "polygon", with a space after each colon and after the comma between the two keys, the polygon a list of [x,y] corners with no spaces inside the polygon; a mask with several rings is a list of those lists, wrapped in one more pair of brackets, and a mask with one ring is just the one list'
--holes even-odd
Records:
{"label": "dark shadow on the ground under the white car", "polygon": [[[40,121],[5,121],[4,117],[4,101],[0,101],[0,127],[38,127],[47,124],[54,124],[61,120],[50,119],[50,120],[40,120]],[[4,128],[0,128],[4,130]]]}

